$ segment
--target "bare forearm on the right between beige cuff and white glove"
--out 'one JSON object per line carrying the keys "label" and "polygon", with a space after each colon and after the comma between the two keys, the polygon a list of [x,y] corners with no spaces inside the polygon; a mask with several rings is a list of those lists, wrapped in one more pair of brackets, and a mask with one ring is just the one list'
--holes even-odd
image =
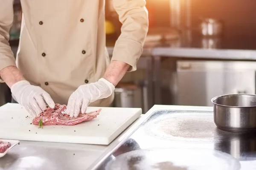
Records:
{"label": "bare forearm on the right between beige cuff and white glove", "polygon": [[110,65],[108,65],[108,68],[103,78],[105,78],[114,86],[116,86],[117,83],[122,79],[122,77],[124,77],[125,73],[128,71],[130,67],[131,66],[126,64],[125,62],[112,60],[110,62]]}

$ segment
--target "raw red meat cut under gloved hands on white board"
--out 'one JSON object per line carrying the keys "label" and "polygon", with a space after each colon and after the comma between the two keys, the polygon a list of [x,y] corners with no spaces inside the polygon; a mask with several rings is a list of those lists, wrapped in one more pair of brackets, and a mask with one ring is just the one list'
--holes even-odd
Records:
{"label": "raw red meat cut under gloved hands on white board", "polygon": [[65,114],[66,109],[66,105],[55,104],[55,108],[47,108],[46,110],[38,114],[38,116],[33,119],[32,123],[33,125],[40,125],[41,121],[41,125],[73,126],[78,123],[90,121],[96,118],[101,111],[101,109],[99,109],[98,111],[93,111],[90,113],[80,113],[77,117],[71,118],[69,115]]}

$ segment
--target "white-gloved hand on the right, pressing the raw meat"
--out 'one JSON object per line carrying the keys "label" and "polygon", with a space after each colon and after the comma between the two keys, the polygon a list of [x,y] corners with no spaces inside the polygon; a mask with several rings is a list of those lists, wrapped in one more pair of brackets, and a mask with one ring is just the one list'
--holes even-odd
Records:
{"label": "white-gloved hand on the right, pressing the raw meat", "polygon": [[104,78],[94,83],[81,85],[71,94],[66,113],[70,117],[77,117],[80,112],[85,113],[90,103],[111,96],[114,90],[115,86]]}

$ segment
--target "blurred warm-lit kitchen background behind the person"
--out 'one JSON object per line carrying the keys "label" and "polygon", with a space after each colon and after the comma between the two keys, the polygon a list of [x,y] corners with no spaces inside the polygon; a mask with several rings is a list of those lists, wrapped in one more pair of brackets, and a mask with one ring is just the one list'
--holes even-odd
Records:
{"label": "blurred warm-lit kitchen background behind the person", "polygon": [[[256,94],[256,0],[146,0],[149,31],[137,71],[115,91],[116,107],[212,106],[221,94]],[[22,9],[14,4],[10,45],[16,55]],[[111,56],[121,24],[106,0]],[[0,105],[11,92],[0,84]]]}

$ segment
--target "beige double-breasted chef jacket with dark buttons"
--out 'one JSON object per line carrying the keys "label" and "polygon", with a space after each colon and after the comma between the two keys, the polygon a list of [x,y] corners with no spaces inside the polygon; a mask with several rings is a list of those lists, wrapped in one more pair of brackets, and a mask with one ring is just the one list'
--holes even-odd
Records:
{"label": "beige double-breasted chef jacket with dark buttons", "polygon": [[[80,85],[103,77],[110,63],[105,40],[105,0],[20,0],[22,22],[16,61],[9,46],[13,0],[0,0],[0,70],[20,69],[32,85],[66,104]],[[113,0],[123,24],[111,60],[136,70],[146,34],[145,0]],[[15,63],[16,62],[16,63]],[[3,82],[3,80],[1,79]],[[108,106],[113,94],[90,106]]]}

